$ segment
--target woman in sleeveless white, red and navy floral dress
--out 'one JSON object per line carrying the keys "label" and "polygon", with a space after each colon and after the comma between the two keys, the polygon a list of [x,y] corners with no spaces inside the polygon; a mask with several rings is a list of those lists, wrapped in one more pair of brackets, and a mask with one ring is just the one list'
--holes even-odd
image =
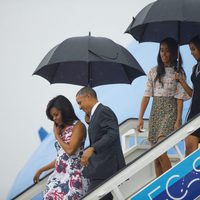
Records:
{"label": "woman in sleeveless white, red and navy floral dress", "polygon": [[53,98],[47,105],[47,117],[54,121],[57,158],[39,169],[34,182],[42,172],[55,168],[44,191],[45,200],[78,200],[88,189],[88,180],[82,175],[80,158],[84,150],[86,129],[64,96]]}

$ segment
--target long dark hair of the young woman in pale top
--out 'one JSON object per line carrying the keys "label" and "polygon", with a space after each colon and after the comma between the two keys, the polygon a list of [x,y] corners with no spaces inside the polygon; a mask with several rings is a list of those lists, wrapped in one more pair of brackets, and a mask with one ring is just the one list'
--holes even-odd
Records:
{"label": "long dark hair of the young woman in pale top", "polygon": [[[178,43],[173,38],[165,38],[160,42],[159,52],[157,56],[157,62],[158,62],[157,75],[154,80],[155,82],[159,80],[160,83],[162,83],[161,78],[165,74],[165,66],[160,56],[160,48],[162,44],[166,44],[168,46],[170,52],[170,63],[174,67],[174,70],[176,72],[181,72],[185,75],[184,69],[182,67],[183,63],[182,57],[180,52],[178,52]],[[179,54],[179,63],[178,63],[178,54]]]}

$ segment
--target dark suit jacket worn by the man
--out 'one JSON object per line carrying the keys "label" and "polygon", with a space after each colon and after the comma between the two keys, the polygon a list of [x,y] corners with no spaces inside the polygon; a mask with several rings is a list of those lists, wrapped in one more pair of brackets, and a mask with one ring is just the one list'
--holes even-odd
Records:
{"label": "dark suit jacket worn by the man", "polygon": [[119,126],[114,112],[99,104],[91,118],[88,134],[94,153],[83,174],[91,180],[104,180],[125,166]]}

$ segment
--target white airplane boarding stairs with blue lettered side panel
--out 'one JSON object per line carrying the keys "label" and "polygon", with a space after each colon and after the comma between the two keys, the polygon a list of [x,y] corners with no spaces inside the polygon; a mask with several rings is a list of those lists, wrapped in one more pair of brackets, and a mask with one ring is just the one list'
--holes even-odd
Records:
{"label": "white airplane boarding stairs with blue lettered side panel", "polygon": [[[120,125],[126,167],[88,193],[83,199],[100,199],[109,192],[112,192],[114,200],[198,199],[200,196],[200,150],[185,159],[178,143],[200,127],[200,115],[153,147],[150,147],[146,139],[148,131],[138,133],[135,129],[136,123],[137,119],[128,119]],[[144,120],[145,130],[147,126],[148,120]],[[156,179],[153,162],[155,158],[171,148],[176,151],[176,154],[169,154],[173,167]],[[187,182],[188,177],[189,182]],[[48,175],[13,199],[42,199],[41,192],[44,190],[47,178]]]}

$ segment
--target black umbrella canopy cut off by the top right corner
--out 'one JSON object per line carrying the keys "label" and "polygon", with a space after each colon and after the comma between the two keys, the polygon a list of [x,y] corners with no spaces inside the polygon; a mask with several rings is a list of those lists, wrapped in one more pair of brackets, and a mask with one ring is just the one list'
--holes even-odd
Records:
{"label": "black umbrella canopy cut off by the top right corner", "polygon": [[128,26],[139,42],[160,42],[172,37],[179,45],[200,34],[199,0],[157,0],[144,7]]}

